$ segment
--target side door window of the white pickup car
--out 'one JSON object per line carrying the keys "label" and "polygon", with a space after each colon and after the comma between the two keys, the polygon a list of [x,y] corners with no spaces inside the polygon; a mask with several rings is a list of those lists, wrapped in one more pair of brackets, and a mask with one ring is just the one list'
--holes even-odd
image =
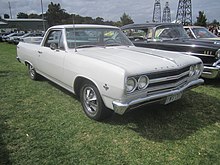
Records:
{"label": "side door window of the white pickup car", "polygon": [[64,50],[63,44],[63,36],[61,30],[53,30],[47,36],[46,42],[44,43],[45,47],[49,47],[51,49],[60,49]]}

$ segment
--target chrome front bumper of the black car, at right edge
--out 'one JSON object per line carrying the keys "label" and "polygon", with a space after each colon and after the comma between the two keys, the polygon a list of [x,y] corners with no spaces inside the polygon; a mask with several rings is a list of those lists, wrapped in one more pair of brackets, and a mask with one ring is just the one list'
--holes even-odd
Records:
{"label": "chrome front bumper of the black car, at right edge", "polygon": [[220,77],[220,66],[204,66],[204,70],[201,75],[203,78],[214,79]]}

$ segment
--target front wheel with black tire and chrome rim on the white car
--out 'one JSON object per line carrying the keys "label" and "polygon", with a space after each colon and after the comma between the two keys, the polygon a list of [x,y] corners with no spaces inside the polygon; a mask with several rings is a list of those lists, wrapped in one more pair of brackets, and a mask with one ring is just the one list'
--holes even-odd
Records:
{"label": "front wheel with black tire and chrome rim on the white car", "polygon": [[101,121],[112,114],[112,110],[104,105],[97,87],[91,82],[83,83],[80,89],[80,101],[83,111],[90,119]]}

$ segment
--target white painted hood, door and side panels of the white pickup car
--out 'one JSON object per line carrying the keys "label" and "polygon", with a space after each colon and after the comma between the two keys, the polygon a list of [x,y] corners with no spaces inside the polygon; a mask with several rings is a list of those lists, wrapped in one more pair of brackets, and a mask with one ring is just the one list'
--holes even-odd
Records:
{"label": "white painted hood, door and side panels of the white pickup car", "polygon": [[[62,28],[62,26],[59,26]],[[58,28],[58,27],[54,27]],[[47,34],[45,35],[47,36]],[[44,42],[43,39],[42,42]],[[75,93],[74,81],[84,77],[98,88],[104,104],[113,109],[113,101],[129,100],[125,94],[125,81],[129,76],[179,69],[201,63],[196,57],[176,52],[111,46],[52,50],[49,47],[20,42],[17,56],[22,63],[30,63],[36,72]],[[103,86],[107,85],[109,90]],[[135,94],[137,96],[143,94]]]}

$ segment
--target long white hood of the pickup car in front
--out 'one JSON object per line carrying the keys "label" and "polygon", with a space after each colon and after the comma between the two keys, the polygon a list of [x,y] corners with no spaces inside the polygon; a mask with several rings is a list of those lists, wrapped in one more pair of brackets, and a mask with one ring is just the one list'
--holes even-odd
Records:
{"label": "long white hood of the pickup car in front", "polygon": [[201,62],[183,53],[139,47],[106,47],[78,49],[78,54],[116,65],[130,74],[179,69]]}

